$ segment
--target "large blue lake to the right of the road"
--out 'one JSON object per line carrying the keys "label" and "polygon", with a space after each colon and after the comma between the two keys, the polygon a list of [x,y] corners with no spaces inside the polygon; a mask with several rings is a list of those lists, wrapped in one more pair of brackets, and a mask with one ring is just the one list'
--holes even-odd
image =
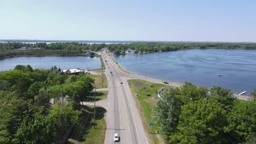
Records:
{"label": "large blue lake to the right of the road", "polygon": [[[232,92],[256,89],[256,50],[187,50],[113,56],[126,70],[164,81],[193,82]],[[223,76],[219,76],[222,73]]]}

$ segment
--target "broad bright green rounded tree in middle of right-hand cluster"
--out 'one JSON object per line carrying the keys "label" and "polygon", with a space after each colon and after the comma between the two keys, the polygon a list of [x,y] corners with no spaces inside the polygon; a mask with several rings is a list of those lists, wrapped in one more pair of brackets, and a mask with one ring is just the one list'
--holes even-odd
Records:
{"label": "broad bright green rounded tree in middle of right-hand cluster", "polygon": [[226,111],[210,99],[200,99],[182,106],[178,131],[170,143],[228,143],[224,128]]}

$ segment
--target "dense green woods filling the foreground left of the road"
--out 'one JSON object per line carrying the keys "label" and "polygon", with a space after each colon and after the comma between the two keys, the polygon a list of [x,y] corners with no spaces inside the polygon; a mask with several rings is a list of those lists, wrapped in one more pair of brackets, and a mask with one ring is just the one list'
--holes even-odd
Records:
{"label": "dense green woods filling the foreground left of the road", "polygon": [[[16,65],[0,73],[0,143],[61,143],[82,141],[94,79],[85,74],[61,74],[56,67],[32,69]],[[85,119],[86,118],[86,119]]]}

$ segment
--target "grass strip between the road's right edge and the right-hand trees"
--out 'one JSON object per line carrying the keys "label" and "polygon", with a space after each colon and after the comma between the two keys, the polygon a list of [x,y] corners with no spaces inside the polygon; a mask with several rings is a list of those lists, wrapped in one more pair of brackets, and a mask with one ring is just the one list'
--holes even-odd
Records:
{"label": "grass strip between the road's right edge and the right-hand trees", "polygon": [[[129,86],[132,91],[133,97],[135,97],[136,106],[139,111],[139,115],[142,118],[143,127],[146,131],[149,131],[149,123],[153,123],[153,131],[149,133],[149,139],[153,143],[162,143],[162,140],[158,138],[158,125],[153,120],[153,107],[158,99],[158,90],[161,87],[170,87],[159,83],[146,82],[142,80],[128,80]],[[139,94],[137,98],[136,95]]]}

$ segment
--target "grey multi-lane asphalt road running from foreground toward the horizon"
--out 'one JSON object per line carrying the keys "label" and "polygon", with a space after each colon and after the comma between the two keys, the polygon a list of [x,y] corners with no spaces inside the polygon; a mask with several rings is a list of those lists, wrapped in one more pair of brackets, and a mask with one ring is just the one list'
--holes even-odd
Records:
{"label": "grey multi-lane asphalt road running from foreground toward the horizon", "polygon": [[[102,57],[104,58],[103,61],[105,59],[108,61],[108,64],[105,64],[105,74],[108,80],[108,98],[97,101],[96,105],[107,109],[107,129],[104,143],[149,143],[145,135],[147,131],[143,129],[141,118],[127,83],[128,79],[134,79],[134,77],[121,73],[112,59],[107,54],[105,55],[104,51]],[[113,76],[111,76],[110,71],[112,71]],[[85,104],[94,105],[94,103]],[[119,142],[114,142],[114,133],[118,133],[120,136]]]}

